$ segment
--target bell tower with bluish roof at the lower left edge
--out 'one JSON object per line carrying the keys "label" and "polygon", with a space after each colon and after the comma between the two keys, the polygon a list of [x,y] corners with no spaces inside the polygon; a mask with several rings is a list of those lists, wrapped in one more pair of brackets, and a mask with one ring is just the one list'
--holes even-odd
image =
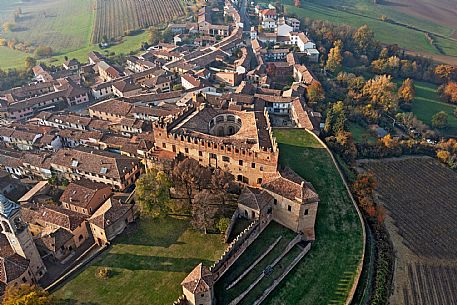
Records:
{"label": "bell tower with bluish roof at the lower left edge", "polygon": [[46,273],[46,267],[27,224],[21,219],[21,207],[2,194],[0,194],[0,224],[2,233],[14,252],[30,261],[30,272],[38,281]]}

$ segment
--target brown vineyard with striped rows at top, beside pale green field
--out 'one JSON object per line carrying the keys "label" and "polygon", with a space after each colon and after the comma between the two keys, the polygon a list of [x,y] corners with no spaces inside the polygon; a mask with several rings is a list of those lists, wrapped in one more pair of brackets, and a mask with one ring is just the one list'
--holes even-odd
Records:
{"label": "brown vineyard with striped rows at top, beside pale green field", "polygon": [[180,0],[97,0],[92,42],[124,36],[183,14]]}

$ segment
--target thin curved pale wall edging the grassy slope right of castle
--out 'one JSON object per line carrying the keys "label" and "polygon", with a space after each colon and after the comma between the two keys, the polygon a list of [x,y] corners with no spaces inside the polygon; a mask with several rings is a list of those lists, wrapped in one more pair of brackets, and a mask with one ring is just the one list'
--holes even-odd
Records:
{"label": "thin curved pale wall edging the grassy slope right of castle", "polygon": [[351,304],[351,302],[352,302],[352,300],[354,298],[355,291],[357,290],[357,286],[359,284],[360,277],[362,275],[363,262],[365,260],[365,248],[366,248],[366,242],[367,242],[367,235],[366,235],[366,230],[365,230],[365,221],[363,220],[362,213],[360,212],[360,209],[357,206],[357,203],[355,202],[354,197],[352,196],[351,189],[349,188],[349,185],[346,182],[346,178],[344,177],[343,172],[341,171],[341,169],[340,169],[340,167],[338,165],[338,162],[336,161],[335,157],[333,156],[333,153],[330,151],[330,149],[325,144],[325,142],[322,141],[321,138],[319,138],[315,133],[309,131],[308,129],[306,129],[306,132],[310,133],[325,148],[325,150],[330,155],[330,158],[332,159],[332,162],[335,165],[336,169],[338,170],[338,173],[340,174],[341,180],[343,181],[343,184],[346,187],[346,190],[347,190],[347,192],[349,194],[349,198],[351,199],[352,204],[353,204],[355,210],[357,211],[357,215],[359,216],[360,225],[362,226],[362,236],[363,236],[362,256],[361,256],[360,262],[359,262],[359,264],[357,266],[356,276],[354,278],[354,282],[352,284],[351,290],[349,291],[349,295],[347,296],[346,302],[344,303],[345,305],[349,305],[349,304]]}

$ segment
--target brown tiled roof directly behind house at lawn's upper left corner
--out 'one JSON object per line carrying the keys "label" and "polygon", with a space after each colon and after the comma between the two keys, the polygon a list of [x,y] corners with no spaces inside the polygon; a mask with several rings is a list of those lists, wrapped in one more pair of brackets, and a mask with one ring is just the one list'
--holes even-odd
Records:
{"label": "brown tiled roof directly behind house at lawn's upper left corner", "polygon": [[[97,192],[106,188],[110,189],[106,184],[93,182],[88,179],[75,180],[65,188],[62,196],[60,196],[60,201],[87,208]],[[106,200],[106,198],[100,199],[101,202],[98,202],[97,206]]]}

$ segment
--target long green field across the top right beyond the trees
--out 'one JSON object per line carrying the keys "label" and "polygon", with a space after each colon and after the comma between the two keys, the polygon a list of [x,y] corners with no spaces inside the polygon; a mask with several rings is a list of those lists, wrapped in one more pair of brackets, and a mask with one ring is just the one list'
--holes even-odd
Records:
{"label": "long green field across the top right beyond the trees", "polygon": [[[367,24],[375,32],[376,39],[382,42],[398,44],[412,51],[438,55],[439,51],[430,44],[421,31],[431,32],[438,36],[437,43],[442,47],[445,55],[457,56],[457,40],[452,38],[454,29],[402,13],[395,10],[395,6],[374,5],[372,0],[302,0],[301,8],[293,6],[290,0],[284,0],[283,3],[288,14],[328,20],[353,27]],[[381,21],[380,17],[383,15],[418,30]]]}

